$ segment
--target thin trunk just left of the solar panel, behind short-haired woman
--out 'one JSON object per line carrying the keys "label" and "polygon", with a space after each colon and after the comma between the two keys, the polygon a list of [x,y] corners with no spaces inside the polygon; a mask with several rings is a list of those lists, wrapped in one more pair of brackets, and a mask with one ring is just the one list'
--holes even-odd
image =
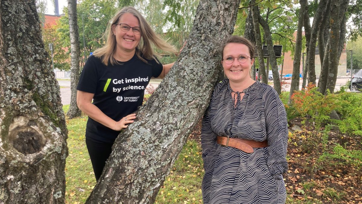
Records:
{"label": "thin trunk just left of the solar panel, behind short-haired woman", "polygon": [[[255,4],[255,0],[251,1],[251,4]],[[259,62],[259,79],[262,78],[262,82],[268,84],[268,77],[266,76],[264,55],[263,55],[263,44],[261,42],[260,25],[259,25],[259,9],[257,6],[252,6],[253,26],[255,33],[256,49],[258,50],[258,62]]]}

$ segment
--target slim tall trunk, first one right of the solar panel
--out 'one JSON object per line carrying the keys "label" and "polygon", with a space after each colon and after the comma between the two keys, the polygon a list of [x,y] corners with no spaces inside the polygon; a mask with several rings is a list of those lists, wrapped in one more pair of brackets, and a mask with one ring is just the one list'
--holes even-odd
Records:
{"label": "slim tall trunk, first one right of the solar panel", "polygon": [[299,3],[300,3],[300,9],[298,17],[298,29],[296,33],[293,74],[292,74],[292,81],[290,84],[288,103],[290,103],[290,97],[293,95],[294,91],[299,90],[300,55],[302,54],[302,28],[303,28],[304,11],[306,10],[307,0],[300,0]]}

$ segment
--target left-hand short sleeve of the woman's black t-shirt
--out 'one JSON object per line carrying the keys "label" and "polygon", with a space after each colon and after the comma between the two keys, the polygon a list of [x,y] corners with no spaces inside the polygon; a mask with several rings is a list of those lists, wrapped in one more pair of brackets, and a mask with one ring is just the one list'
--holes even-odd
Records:
{"label": "left-hand short sleeve of the woman's black t-shirt", "polygon": [[94,56],[90,56],[85,62],[82,73],[80,74],[77,90],[88,93],[96,93],[98,83],[98,74]]}

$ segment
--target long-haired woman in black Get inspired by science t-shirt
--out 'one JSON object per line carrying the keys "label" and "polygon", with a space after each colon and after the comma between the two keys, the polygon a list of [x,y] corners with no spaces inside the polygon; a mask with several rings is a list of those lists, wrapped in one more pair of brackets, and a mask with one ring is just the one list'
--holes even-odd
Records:
{"label": "long-haired woman in black Get inspired by science t-shirt", "polygon": [[106,45],[88,58],[77,86],[78,107],[89,117],[85,142],[97,181],[115,138],[134,122],[132,113],[142,105],[151,77],[163,78],[173,65],[160,64],[151,43],[176,53],[133,7],[113,17],[106,36]]}

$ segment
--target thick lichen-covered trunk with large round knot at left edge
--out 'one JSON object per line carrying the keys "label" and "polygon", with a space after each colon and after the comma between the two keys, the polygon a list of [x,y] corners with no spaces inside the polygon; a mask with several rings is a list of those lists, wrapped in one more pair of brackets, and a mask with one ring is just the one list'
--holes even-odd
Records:
{"label": "thick lichen-covered trunk with large round knot at left edge", "polygon": [[0,1],[0,203],[64,203],[67,128],[35,1]]}

